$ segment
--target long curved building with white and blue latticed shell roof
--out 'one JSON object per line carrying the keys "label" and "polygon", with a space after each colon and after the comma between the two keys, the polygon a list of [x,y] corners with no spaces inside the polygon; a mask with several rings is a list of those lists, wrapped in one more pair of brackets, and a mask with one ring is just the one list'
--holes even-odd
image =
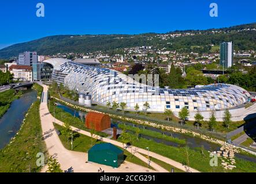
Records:
{"label": "long curved building with white and blue latticed shell roof", "polygon": [[126,102],[127,109],[136,104],[143,110],[148,102],[151,112],[170,109],[179,112],[184,106],[191,111],[210,111],[233,108],[247,102],[250,94],[241,87],[218,84],[195,89],[161,89],[141,84],[127,75],[107,68],[84,66],[66,59],[47,59],[53,66],[52,79],[64,83],[78,93],[89,91],[93,102]]}

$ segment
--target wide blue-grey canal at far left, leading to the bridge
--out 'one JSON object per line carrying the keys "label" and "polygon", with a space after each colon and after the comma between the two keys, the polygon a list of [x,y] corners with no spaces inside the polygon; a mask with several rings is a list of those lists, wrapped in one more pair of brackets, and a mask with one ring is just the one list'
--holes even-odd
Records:
{"label": "wide blue-grey canal at far left, leading to the bridge", "polygon": [[5,147],[12,137],[16,135],[24,120],[25,114],[36,101],[37,93],[35,90],[23,91],[24,94],[14,100],[8,111],[0,118],[0,149]]}

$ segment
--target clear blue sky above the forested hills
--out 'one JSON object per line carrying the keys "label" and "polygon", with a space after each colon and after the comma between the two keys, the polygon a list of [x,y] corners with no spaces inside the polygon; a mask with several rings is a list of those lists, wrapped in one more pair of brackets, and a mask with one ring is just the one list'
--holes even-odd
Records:
{"label": "clear blue sky above the forested hills", "polygon": [[[45,17],[36,17],[36,4]],[[218,17],[209,5],[218,4]],[[3,0],[0,48],[57,34],[138,34],[256,22],[255,0]]]}

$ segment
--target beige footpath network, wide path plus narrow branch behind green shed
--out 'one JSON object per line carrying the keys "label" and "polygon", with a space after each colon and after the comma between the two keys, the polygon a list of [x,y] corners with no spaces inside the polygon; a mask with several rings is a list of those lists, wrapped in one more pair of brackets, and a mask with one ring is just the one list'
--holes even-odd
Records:
{"label": "beige footpath network, wide path plus narrow branch behind green shed", "polygon": [[[42,85],[42,84],[40,84]],[[47,94],[48,86],[43,86],[43,93]],[[54,117],[51,116],[49,109],[47,107],[47,95],[44,95],[42,99],[42,103],[40,104],[40,118],[43,130],[43,137],[46,141],[47,150],[49,155],[56,156],[58,162],[61,164],[62,170],[72,170],[75,172],[97,172],[98,168],[101,167],[105,172],[138,172],[138,173],[145,173],[145,172],[155,172],[154,170],[150,170],[149,168],[138,166],[137,164],[133,164],[130,162],[125,161],[121,164],[118,168],[113,168],[109,166],[103,166],[97,163],[86,163],[87,161],[87,153],[83,152],[75,152],[66,150],[66,148],[62,145],[60,139],[58,138],[57,133],[54,131]],[[59,120],[55,120],[55,123],[62,125],[63,122]],[[71,127],[73,131],[79,132],[83,135],[91,137],[90,132],[83,131],[81,129],[77,129],[75,127]],[[102,140],[106,143],[112,143],[117,145],[118,147],[123,147],[123,143],[120,143],[116,140],[107,139],[105,137],[100,137],[98,135],[94,135],[95,139]],[[138,157],[143,162],[147,163],[147,158],[142,156],[141,154],[147,155],[148,151],[138,147],[131,147],[127,149],[129,152],[134,153],[136,150],[135,156]],[[165,156],[155,154],[154,152],[149,152],[149,155],[153,158],[161,160],[162,162],[166,162],[180,170],[186,171],[183,164],[176,162],[175,160],[166,158]],[[154,162],[150,162],[150,166],[153,167],[157,172],[168,172],[158,164]],[[47,170],[46,167],[43,168],[43,172]],[[192,173],[199,173],[199,171],[189,168],[190,172]]]}

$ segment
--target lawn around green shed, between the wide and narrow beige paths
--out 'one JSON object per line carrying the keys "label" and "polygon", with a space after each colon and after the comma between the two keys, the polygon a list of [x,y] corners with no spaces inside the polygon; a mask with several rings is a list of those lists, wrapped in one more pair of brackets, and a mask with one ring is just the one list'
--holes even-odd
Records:
{"label": "lawn around green shed, between the wide and narrow beige paths", "polygon": [[[61,125],[55,124],[54,127],[60,130],[60,132],[63,132],[63,128]],[[61,133],[59,137],[64,147],[67,150],[71,150],[71,136],[66,137],[65,135],[63,135],[63,133]],[[92,143],[99,144],[99,143],[103,143],[103,141],[97,141],[97,139],[92,139]],[[78,132],[73,132],[73,151],[88,152],[88,150],[90,150],[91,147],[92,147],[91,137],[85,136]],[[124,150],[123,148],[121,149]],[[143,167],[147,167],[147,163],[143,162],[136,156],[133,156],[127,150],[124,150],[124,155],[125,155],[126,161],[138,164]],[[153,169],[152,167],[150,168]]]}

